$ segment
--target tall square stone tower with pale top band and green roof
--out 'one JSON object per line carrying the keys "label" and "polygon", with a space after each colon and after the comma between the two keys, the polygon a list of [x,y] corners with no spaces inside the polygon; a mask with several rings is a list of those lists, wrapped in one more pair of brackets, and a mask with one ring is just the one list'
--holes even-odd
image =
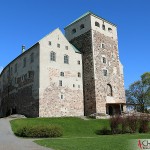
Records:
{"label": "tall square stone tower with pale top band and green roof", "polygon": [[84,114],[120,114],[125,91],[116,25],[87,12],[65,28],[65,36],[82,53]]}

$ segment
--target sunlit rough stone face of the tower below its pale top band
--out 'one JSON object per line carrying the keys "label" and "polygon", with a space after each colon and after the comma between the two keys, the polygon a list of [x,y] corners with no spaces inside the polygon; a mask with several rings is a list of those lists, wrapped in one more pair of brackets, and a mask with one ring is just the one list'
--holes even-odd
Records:
{"label": "sunlit rough stone face of the tower below its pale top band", "polygon": [[[102,43],[105,48],[102,48]],[[93,44],[96,108],[97,112],[106,113],[106,103],[112,103],[107,101],[107,84],[112,87],[113,103],[125,103],[124,80],[119,65],[118,43],[111,37],[93,31]],[[106,58],[106,63],[103,63],[102,57]],[[107,76],[103,75],[103,69],[108,71]]]}

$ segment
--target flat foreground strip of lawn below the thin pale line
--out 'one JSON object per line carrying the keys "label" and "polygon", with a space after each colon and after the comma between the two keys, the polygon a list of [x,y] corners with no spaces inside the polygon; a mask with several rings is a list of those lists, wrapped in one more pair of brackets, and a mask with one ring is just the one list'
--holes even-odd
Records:
{"label": "flat foreground strip of lawn below the thin pale line", "polygon": [[[54,150],[134,150],[130,139],[149,138],[150,134],[103,135],[93,138],[37,140],[37,144]],[[136,149],[137,150],[137,149]]]}

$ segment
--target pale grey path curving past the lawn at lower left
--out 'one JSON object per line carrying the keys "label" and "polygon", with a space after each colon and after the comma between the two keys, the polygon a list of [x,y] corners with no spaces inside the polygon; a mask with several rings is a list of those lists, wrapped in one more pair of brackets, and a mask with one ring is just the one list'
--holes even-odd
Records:
{"label": "pale grey path curving past the lawn at lower left", "polygon": [[0,119],[0,150],[52,150],[41,147],[33,139],[16,137],[10,127],[9,118]]}

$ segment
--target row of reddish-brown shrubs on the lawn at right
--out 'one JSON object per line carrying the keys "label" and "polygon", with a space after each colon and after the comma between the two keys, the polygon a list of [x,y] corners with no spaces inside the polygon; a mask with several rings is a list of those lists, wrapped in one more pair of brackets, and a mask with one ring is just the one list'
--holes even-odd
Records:
{"label": "row of reddish-brown shrubs on the lawn at right", "polygon": [[148,116],[113,116],[110,118],[110,129],[102,128],[100,135],[124,134],[124,133],[147,133],[149,128]]}

